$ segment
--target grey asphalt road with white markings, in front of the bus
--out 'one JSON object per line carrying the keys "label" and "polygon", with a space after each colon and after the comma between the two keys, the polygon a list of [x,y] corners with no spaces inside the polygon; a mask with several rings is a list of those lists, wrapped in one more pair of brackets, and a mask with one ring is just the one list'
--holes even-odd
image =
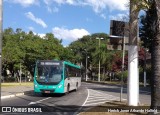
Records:
{"label": "grey asphalt road with white markings, in front of the bus", "polygon": [[[34,95],[31,92],[23,96],[2,99],[1,105],[41,107],[43,111],[54,111],[54,114],[57,113],[58,115],[74,115],[81,111],[82,106],[87,109],[87,107],[96,106],[111,100],[119,100],[119,92],[120,87],[118,85],[100,85],[83,82],[78,91],[72,91],[67,95],[41,96]],[[127,89],[124,87],[124,100],[127,99],[126,92]],[[144,89],[141,90],[141,88],[140,103],[150,104],[150,92],[144,91]]]}

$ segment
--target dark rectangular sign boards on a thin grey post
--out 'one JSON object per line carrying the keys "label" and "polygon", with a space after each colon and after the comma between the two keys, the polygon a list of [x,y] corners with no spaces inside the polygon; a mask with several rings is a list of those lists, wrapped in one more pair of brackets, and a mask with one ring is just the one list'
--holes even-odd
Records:
{"label": "dark rectangular sign boards on a thin grey post", "polygon": [[128,24],[123,21],[111,21],[110,27],[110,41],[107,45],[108,50],[123,50],[123,57],[122,57],[122,76],[121,76],[121,88],[120,88],[120,101],[122,101],[122,94],[123,94],[123,72],[124,72],[124,57],[125,57],[125,50],[128,50],[128,34],[126,33],[126,28]]}

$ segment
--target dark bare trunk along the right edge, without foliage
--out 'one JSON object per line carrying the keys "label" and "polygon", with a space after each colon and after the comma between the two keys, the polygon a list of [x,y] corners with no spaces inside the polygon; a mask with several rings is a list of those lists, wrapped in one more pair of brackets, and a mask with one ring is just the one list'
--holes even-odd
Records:
{"label": "dark bare trunk along the right edge, without foliage", "polygon": [[152,79],[151,79],[151,108],[160,105],[160,0],[153,0],[152,12]]}

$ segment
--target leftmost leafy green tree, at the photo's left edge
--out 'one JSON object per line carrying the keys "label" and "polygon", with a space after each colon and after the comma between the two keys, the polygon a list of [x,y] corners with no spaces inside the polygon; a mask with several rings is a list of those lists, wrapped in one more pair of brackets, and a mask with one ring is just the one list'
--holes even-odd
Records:
{"label": "leftmost leafy green tree, at the photo's left edge", "polygon": [[17,65],[23,56],[23,51],[20,49],[19,37],[11,28],[6,29],[3,33],[2,55],[3,68],[8,69],[13,76],[18,70]]}

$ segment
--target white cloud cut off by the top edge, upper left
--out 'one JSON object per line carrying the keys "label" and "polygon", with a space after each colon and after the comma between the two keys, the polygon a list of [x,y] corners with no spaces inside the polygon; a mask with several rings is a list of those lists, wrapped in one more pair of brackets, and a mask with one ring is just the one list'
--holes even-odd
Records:
{"label": "white cloud cut off by the top edge, upper left", "polygon": [[5,0],[7,2],[10,3],[16,3],[16,4],[20,4],[24,7],[28,7],[30,5],[38,5],[39,4],[39,0]]}

